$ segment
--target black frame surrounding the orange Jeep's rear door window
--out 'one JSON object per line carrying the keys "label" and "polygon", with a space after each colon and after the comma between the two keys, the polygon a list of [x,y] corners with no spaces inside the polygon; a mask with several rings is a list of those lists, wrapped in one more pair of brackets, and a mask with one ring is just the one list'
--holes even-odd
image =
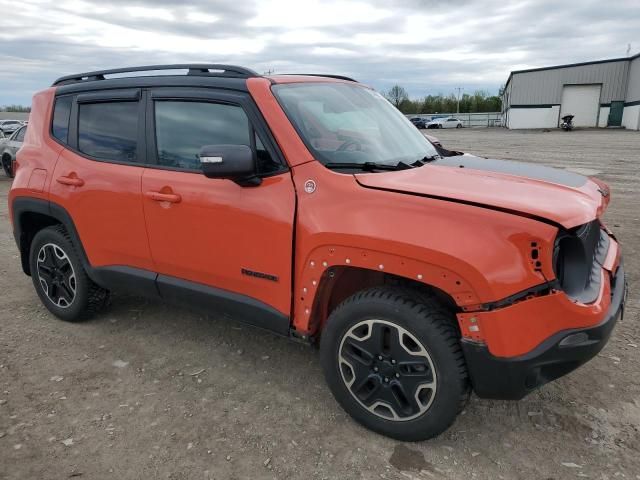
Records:
{"label": "black frame surrounding the orange Jeep's rear door window", "polygon": [[[96,92],[95,94],[91,94],[89,97],[81,99],[79,101],[80,96],[83,95],[75,95],[73,99],[73,103],[71,104],[71,115],[69,119],[69,133],[68,133],[68,144],[64,145],[66,148],[71,150],[73,153],[80,155],[87,160],[93,160],[94,162],[102,162],[102,163],[113,163],[116,165],[128,165],[132,167],[145,167],[147,165],[147,148],[146,148],[146,138],[145,138],[145,123],[146,123],[146,112],[145,112],[145,99],[146,93],[141,89],[138,90],[137,95],[133,95],[131,93],[132,89],[122,89],[123,92],[119,92],[117,90],[107,90],[103,92]],[[88,101],[87,101],[88,100]],[[138,132],[136,135],[136,161],[130,162],[127,160],[113,160],[107,158],[94,157],[93,155],[89,155],[88,153],[82,152],[78,147],[78,131],[79,131],[79,105],[93,105],[97,103],[120,103],[120,102],[136,102],[138,103]],[[53,125],[53,115],[52,115],[52,125]],[[52,127],[53,128],[53,127]],[[52,138],[55,139],[55,137]],[[60,142],[58,142],[60,143]]]}

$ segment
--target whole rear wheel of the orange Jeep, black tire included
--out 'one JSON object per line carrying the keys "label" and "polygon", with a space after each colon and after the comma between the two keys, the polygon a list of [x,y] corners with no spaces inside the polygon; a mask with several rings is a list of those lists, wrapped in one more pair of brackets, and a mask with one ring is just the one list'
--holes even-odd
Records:
{"label": "whole rear wheel of the orange Jeep, black tire included", "polygon": [[109,291],[87,276],[62,225],[44,228],[35,235],[29,252],[29,266],[40,300],[62,320],[87,320],[109,303]]}

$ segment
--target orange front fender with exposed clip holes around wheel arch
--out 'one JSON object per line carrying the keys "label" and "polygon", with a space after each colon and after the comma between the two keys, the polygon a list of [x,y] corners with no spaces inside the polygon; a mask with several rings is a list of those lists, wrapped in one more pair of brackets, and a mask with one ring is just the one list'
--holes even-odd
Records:
{"label": "orange front fender with exposed clip holes around wheel arch", "polygon": [[[538,244],[543,264],[551,263],[556,229],[547,224],[455,202],[365,189],[353,175],[332,172],[318,162],[296,167],[294,180],[301,192],[294,325],[304,331],[313,331],[308,325],[313,296],[322,272],[332,266],[417,280],[447,292],[461,307],[472,307],[544,282],[523,255],[532,242]],[[316,184],[313,193],[304,190],[308,180]],[[302,297],[304,289],[308,293]]]}

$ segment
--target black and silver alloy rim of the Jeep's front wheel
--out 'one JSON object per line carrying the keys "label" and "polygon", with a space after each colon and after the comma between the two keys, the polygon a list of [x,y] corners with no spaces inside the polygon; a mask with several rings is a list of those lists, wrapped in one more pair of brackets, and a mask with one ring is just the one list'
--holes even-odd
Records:
{"label": "black and silver alloy rim of the Jeep's front wheel", "polygon": [[343,336],[338,349],[342,380],[365,409],[386,420],[424,414],[437,390],[427,349],[405,328],[386,320],[364,320]]}

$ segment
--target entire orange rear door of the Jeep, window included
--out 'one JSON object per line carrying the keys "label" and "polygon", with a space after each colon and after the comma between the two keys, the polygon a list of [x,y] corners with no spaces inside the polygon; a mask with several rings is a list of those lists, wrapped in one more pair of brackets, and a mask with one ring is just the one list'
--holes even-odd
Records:
{"label": "entire orange rear door of the Jeep, window included", "polygon": [[[60,110],[58,110],[58,107]],[[93,267],[152,270],[140,181],[145,162],[139,89],[58,97],[52,134],[65,144],[50,200],[71,216]]]}

